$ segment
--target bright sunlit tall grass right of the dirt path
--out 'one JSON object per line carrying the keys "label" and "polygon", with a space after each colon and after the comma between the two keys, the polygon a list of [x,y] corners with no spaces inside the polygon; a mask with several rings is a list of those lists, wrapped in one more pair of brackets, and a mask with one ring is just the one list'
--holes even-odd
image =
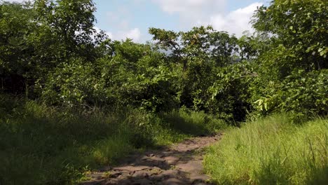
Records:
{"label": "bright sunlit tall grass right of the dirt path", "polygon": [[294,125],[275,115],[228,130],[205,170],[217,184],[327,184],[328,120]]}

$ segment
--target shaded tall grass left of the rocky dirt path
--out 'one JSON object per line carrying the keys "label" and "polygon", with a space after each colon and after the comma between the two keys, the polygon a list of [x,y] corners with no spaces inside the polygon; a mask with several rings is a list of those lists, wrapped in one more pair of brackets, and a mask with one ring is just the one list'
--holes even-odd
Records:
{"label": "shaded tall grass left of the rocky dirt path", "polygon": [[[185,111],[72,111],[0,94],[0,184],[76,184],[86,170],[179,142],[195,128],[212,132],[209,122],[221,124],[214,118],[205,123],[205,117]],[[184,128],[177,129],[179,121]]]}

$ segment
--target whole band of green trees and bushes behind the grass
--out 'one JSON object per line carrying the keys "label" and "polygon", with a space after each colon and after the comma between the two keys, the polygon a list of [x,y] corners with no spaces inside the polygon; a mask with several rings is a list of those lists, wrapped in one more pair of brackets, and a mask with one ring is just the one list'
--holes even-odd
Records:
{"label": "whole band of green trees and bushes behind the grass", "polygon": [[147,43],[97,32],[95,11],[92,0],[1,2],[1,91],[71,109],[184,107],[228,123],[327,116],[327,1],[271,1],[240,38],[149,28]]}

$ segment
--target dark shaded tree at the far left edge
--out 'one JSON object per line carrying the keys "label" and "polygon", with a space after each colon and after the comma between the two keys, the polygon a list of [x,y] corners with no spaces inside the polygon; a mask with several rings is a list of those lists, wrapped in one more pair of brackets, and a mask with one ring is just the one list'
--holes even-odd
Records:
{"label": "dark shaded tree at the far left edge", "polygon": [[33,70],[29,60],[34,46],[28,36],[36,25],[32,4],[0,3],[0,78],[1,89],[11,93],[25,90]]}

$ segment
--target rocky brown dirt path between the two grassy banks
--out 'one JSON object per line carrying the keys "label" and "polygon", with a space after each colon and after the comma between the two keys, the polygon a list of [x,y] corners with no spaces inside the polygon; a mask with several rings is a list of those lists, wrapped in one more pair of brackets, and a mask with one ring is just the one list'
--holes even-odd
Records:
{"label": "rocky brown dirt path between the two grassy banks", "polygon": [[203,148],[220,136],[194,137],[168,149],[128,156],[118,167],[105,167],[90,174],[94,184],[208,184],[203,174]]}

